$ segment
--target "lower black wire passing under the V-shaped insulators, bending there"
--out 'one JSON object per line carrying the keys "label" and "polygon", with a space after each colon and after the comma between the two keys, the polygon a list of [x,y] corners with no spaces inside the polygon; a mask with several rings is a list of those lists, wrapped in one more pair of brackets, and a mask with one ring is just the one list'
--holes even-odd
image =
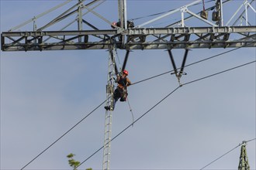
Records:
{"label": "lower black wire passing under the V-shaped insulators, bending there", "polygon": [[[190,83],[195,83],[195,82],[197,82],[197,81],[199,81],[199,80],[204,80],[204,79],[209,78],[209,77],[211,77],[211,76],[216,76],[216,75],[218,75],[218,74],[220,74],[220,73],[225,73],[225,72],[227,72],[227,71],[235,70],[235,69],[237,69],[237,68],[239,68],[239,67],[242,67],[242,66],[247,66],[248,64],[255,63],[255,62],[256,62],[256,60],[251,61],[251,62],[249,62],[249,63],[244,63],[244,64],[239,65],[239,66],[235,66],[235,67],[230,68],[230,69],[228,69],[228,70],[223,70],[223,71],[220,71],[220,72],[218,72],[218,73],[213,73],[213,74],[211,74],[211,75],[209,75],[209,76],[204,76],[204,77],[199,78],[199,79],[197,79],[197,80],[192,80],[192,81],[189,81],[189,82],[187,82],[187,83],[183,83],[182,85],[176,87],[175,90],[172,90],[171,93],[168,93],[167,96],[165,96],[163,99],[161,99],[159,102],[157,102],[157,104],[155,104],[153,107],[150,107],[149,110],[147,110],[144,114],[142,114],[140,117],[138,117],[132,124],[130,124],[130,125],[128,125],[126,128],[124,128],[123,131],[120,131],[119,134],[116,134],[116,136],[115,136],[114,138],[112,138],[111,141],[115,140],[120,134],[123,134],[124,131],[126,131],[128,128],[130,128],[131,126],[133,126],[133,124],[135,124],[137,121],[139,121],[142,117],[144,117],[146,114],[148,114],[148,113],[150,112],[150,110],[153,110],[154,107],[157,107],[158,104],[161,104],[162,101],[164,101],[166,98],[168,98],[169,96],[171,96],[172,93],[175,93],[175,91],[178,90],[178,88],[183,87],[183,86],[185,86],[185,85],[188,85],[188,84],[190,84]],[[253,139],[253,140],[254,140],[254,139]],[[251,140],[250,140],[250,141],[251,141]],[[103,145],[101,148],[99,148],[97,151],[95,151],[92,155],[90,155],[88,158],[86,158],[85,161],[81,162],[76,168],[78,168],[79,166],[81,166],[82,164],[84,164],[85,162],[87,162],[89,158],[92,158],[92,156],[95,155],[96,153],[98,153],[100,150],[102,150],[102,148],[104,148],[104,145]]]}

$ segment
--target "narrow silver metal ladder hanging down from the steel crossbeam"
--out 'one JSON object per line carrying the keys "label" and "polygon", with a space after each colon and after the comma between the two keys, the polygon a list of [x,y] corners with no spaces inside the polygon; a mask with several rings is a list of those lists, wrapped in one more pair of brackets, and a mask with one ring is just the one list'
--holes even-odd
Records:
{"label": "narrow silver metal ladder hanging down from the steel crossbeam", "polygon": [[103,170],[109,170],[110,164],[110,148],[111,148],[111,134],[112,134],[112,108],[113,108],[113,93],[114,93],[114,76],[115,72],[116,49],[109,48],[109,71],[108,83],[106,87],[106,106],[110,106],[110,110],[106,110],[105,117],[105,134],[104,134],[104,148],[103,148]]}

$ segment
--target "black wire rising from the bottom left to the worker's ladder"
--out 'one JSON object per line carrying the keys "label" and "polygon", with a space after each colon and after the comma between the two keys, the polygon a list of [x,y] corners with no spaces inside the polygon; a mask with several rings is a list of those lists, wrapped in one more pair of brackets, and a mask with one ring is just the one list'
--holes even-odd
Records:
{"label": "black wire rising from the bottom left to the worker's ladder", "polygon": [[[108,99],[109,99],[109,98],[107,98],[106,100],[108,100]],[[92,114],[95,110],[97,110],[99,107],[101,107],[102,104],[104,104],[104,103],[106,102],[106,100],[104,100],[101,104],[99,104],[99,106],[95,107],[94,110],[92,110],[89,114],[87,114],[85,117],[83,117],[83,118],[81,119],[81,121],[78,121],[77,124],[74,124],[74,126],[73,126],[72,128],[70,128],[68,131],[66,131],[64,134],[62,134],[60,138],[57,138],[56,141],[54,141],[51,145],[49,145],[47,148],[45,148],[43,151],[41,151],[39,155],[36,155],[36,157],[33,158],[33,159],[32,159],[29,163],[27,163],[25,166],[23,166],[23,167],[21,168],[21,170],[24,169],[24,168],[26,168],[26,166],[28,166],[28,165],[29,165],[30,163],[32,163],[33,161],[35,161],[36,158],[40,157],[40,155],[42,155],[42,154],[43,154],[45,151],[47,151],[50,147],[52,147],[54,144],[56,144],[57,141],[61,140],[61,138],[63,138],[67,133],[69,133],[72,129],[74,129],[78,124],[80,124],[82,121],[84,121],[90,114]]]}

